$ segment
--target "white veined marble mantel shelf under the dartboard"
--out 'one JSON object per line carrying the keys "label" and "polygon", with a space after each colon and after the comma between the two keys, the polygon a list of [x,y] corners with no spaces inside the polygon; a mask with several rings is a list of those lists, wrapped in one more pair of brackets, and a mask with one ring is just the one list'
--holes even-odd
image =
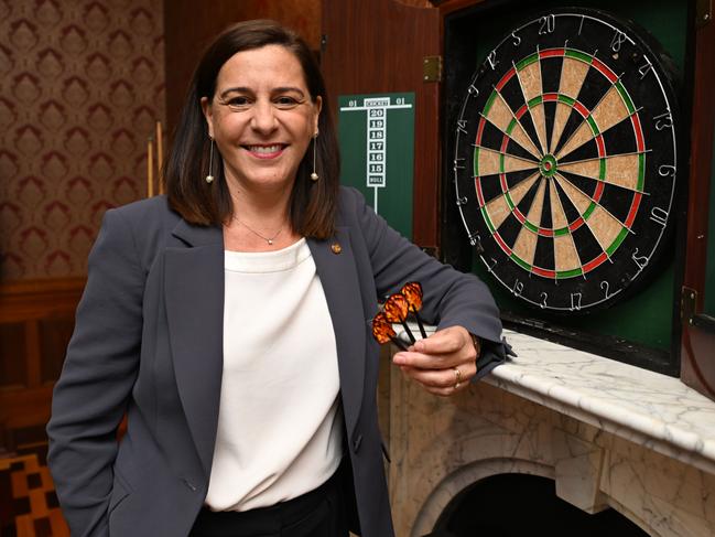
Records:
{"label": "white veined marble mantel shelf under the dartboard", "polygon": [[[715,473],[715,402],[678,378],[507,331],[485,382]],[[715,350],[714,350],[715,353]]]}

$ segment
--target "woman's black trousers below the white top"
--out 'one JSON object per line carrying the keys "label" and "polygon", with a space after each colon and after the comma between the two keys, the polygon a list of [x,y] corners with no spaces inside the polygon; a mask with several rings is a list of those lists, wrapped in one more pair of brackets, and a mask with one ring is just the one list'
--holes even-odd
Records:
{"label": "woman's black trousers below the white top", "polygon": [[347,537],[338,474],[314,491],[270,507],[218,513],[203,508],[189,537]]}

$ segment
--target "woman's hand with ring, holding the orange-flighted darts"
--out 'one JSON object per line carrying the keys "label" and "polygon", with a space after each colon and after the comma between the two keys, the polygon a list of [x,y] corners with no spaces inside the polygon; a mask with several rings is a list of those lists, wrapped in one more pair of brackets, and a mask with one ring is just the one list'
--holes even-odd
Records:
{"label": "woman's hand with ring, holding the orange-flighted darts", "polygon": [[462,326],[440,330],[420,340],[392,362],[431,394],[451,396],[469,385],[477,373],[477,350]]}

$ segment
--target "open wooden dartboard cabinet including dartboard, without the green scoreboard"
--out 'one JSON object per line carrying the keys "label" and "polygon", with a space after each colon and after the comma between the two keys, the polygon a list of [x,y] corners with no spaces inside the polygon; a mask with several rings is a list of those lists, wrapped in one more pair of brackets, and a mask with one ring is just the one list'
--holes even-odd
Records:
{"label": "open wooden dartboard cabinet including dartboard, without the green scoreboard", "polygon": [[506,326],[715,398],[712,2],[323,8],[334,103],[414,93],[415,244]]}

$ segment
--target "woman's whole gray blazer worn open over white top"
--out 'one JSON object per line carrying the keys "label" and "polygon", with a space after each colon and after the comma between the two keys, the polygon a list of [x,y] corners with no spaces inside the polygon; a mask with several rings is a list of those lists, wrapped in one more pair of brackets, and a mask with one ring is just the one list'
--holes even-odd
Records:
{"label": "woman's whole gray blazer worn open over white top", "polygon": [[[498,311],[480,281],[423,254],[357,191],[342,189],[336,235],[308,245],[337,344],[353,473],[346,492],[361,535],[388,537],[379,348],[368,323],[378,298],[418,280],[429,322],[462,325],[503,359]],[[106,213],[47,426],[50,469],[74,537],[188,535],[212,468],[223,313],[219,228],[187,224],[163,196]]]}

